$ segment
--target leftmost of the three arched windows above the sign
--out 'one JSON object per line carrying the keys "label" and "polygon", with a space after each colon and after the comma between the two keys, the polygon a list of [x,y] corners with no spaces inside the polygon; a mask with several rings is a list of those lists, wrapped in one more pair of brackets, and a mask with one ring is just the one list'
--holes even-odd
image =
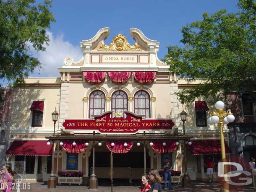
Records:
{"label": "leftmost of the three arched windows above the sign", "polygon": [[96,90],[90,94],[89,118],[91,115],[99,115],[105,112],[105,95],[102,91]]}

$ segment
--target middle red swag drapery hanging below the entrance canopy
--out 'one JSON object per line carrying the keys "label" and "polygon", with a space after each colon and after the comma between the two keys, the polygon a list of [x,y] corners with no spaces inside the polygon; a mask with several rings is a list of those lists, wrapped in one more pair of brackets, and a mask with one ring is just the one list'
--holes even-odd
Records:
{"label": "middle red swag drapery hanging below the entrance canopy", "polygon": [[128,153],[128,151],[133,147],[132,141],[126,141],[127,147],[123,146],[125,141],[114,141],[114,147],[111,146],[111,143],[111,141],[107,141],[107,148],[113,153]]}

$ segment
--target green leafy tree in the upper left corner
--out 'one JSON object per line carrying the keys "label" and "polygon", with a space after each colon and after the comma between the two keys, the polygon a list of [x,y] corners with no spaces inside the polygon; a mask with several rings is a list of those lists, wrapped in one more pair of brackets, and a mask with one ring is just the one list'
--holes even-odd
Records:
{"label": "green leafy tree in the upper left corner", "polygon": [[49,36],[46,29],[55,19],[51,0],[0,0],[0,79],[22,81],[42,68],[31,48],[44,51]]}

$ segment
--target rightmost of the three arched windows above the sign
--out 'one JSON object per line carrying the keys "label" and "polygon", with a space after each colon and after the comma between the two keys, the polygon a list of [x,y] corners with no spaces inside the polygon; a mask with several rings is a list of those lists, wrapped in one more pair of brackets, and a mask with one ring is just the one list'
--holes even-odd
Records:
{"label": "rightmost of the three arched windows above the sign", "polygon": [[146,115],[150,118],[149,94],[146,91],[138,91],[134,95],[134,113]]}

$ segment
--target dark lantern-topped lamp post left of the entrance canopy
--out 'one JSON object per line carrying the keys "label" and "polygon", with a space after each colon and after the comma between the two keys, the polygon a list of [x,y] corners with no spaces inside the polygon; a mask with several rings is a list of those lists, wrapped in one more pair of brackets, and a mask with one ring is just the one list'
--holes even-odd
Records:
{"label": "dark lantern-topped lamp post left of the entrance canopy", "polygon": [[[59,114],[55,109],[55,111],[52,113],[52,121],[54,123],[54,127],[53,127],[53,136],[54,137],[55,137],[55,124],[56,124],[56,121],[58,120],[58,117],[59,117]],[[48,189],[56,188],[57,178],[54,176],[53,169],[54,169],[54,141],[52,143],[52,171],[51,171],[50,177],[47,182]]]}

